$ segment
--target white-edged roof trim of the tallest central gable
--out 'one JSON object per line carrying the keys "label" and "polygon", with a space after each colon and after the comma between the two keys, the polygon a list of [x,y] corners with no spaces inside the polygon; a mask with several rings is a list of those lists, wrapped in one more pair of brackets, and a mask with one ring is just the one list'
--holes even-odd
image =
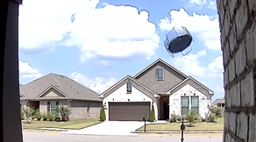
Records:
{"label": "white-edged roof trim of the tallest central gable", "polygon": [[157,64],[158,62],[161,62],[162,64],[167,65],[169,68],[171,68],[172,70],[176,71],[177,73],[181,74],[181,76],[183,76],[184,78],[188,78],[187,75],[185,75],[183,72],[179,71],[178,69],[174,68],[173,65],[168,64],[167,62],[165,62],[164,60],[162,60],[161,58],[158,58],[157,60],[155,60],[152,64],[149,64],[148,66],[146,66],[146,68],[144,68],[142,71],[139,71],[139,73],[137,73],[135,76],[133,76],[133,78],[137,78],[139,77],[139,75],[141,75],[143,72],[147,71],[149,68],[151,68],[154,64]]}

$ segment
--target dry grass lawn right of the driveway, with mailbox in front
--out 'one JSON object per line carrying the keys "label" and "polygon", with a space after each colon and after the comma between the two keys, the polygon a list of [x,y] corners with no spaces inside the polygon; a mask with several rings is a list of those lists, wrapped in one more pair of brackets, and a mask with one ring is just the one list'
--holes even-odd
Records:
{"label": "dry grass lawn right of the driveway, with mailbox in front", "polygon": [[[193,127],[188,127],[188,123],[185,123],[185,125],[185,131],[223,131],[224,118],[217,118],[217,123],[195,123]],[[143,131],[144,127],[141,127],[138,130]],[[181,131],[181,124],[169,123],[146,125],[146,131]]]}

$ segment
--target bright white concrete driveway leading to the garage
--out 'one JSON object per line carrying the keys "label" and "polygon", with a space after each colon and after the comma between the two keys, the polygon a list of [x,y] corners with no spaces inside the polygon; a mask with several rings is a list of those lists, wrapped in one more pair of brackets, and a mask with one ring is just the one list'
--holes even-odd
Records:
{"label": "bright white concrete driveway leading to the garage", "polygon": [[88,135],[126,135],[136,136],[131,133],[143,126],[143,121],[105,121],[98,125],[92,125],[81,130],[68,130],[61,134],[88,134]]}

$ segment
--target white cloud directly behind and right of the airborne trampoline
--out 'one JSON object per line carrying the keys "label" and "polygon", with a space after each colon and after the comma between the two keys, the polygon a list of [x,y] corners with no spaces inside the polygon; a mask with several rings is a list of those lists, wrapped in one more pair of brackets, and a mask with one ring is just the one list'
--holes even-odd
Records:
{"label": "white cloud directly behind and right of the airborne trampoline", "polygon": [[218,17],[199,15],[193,13],[188,15],[184,9],[170,11],[171,20],[167,17],[160,19],[160,30],[172,30],[176,26],[186,27],[203,44],[212,50],[220,50],[220,31]]}

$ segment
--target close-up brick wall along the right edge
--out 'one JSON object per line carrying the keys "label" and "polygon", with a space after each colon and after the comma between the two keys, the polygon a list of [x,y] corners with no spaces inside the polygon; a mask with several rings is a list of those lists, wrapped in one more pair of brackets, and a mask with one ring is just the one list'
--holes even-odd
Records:
{"label": "close-up brick wall along the right edge", "polygon": [[224,56],[224,142],[256,141],[256,1],[217,0]]}

